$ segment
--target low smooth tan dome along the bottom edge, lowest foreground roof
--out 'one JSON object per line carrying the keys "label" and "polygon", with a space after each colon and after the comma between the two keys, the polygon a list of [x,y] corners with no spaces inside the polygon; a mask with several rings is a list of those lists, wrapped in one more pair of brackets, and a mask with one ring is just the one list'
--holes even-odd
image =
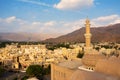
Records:
{"label": "low smooth tan dome along the bottom edge, lowest foreground roof", "polygon": [[98,72],[76,70],[70,77],[70,80],[120,80],[120,78],[110,75],[104,75]]}

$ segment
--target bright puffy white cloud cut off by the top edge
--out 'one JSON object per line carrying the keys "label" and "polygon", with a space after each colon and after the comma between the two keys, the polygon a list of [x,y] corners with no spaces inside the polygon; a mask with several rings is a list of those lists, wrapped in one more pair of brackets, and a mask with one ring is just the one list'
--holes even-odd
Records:
{"label": "bright puffy white cloud cut off by the top edge", "polygon": [[90,7],[94,4],[94,0],[60,0],[54,7],[61,10],[73,10]]}

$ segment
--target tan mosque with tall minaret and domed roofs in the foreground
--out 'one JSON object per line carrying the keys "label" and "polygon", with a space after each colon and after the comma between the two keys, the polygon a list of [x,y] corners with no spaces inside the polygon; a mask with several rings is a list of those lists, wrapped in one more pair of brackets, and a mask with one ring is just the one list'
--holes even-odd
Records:
{"label": "tan mosque with tall minaret and domed roofs in the foreground", "polygon": [[120,56],[106,58],[91,47],[90,20],[85,21],[84,57],[51,64],[51,80],[120,80]]}

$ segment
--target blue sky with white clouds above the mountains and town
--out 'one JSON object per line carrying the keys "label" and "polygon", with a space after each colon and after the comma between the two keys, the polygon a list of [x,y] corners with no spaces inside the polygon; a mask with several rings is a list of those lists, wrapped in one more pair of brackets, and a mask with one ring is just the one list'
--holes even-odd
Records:
{"label": "blue sky with white clouds above the mountains and town", "polygon": [[69,33],[120,23],[120,0],[0,0],[0,32]]}

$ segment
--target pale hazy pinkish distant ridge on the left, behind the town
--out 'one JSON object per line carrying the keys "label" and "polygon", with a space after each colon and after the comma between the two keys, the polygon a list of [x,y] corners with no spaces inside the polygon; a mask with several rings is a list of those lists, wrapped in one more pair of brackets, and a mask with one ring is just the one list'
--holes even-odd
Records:
{"label": "pale hazy pinkish distant ridge on the left, behind the town", "polygon": [[[53,35],[42,33],[0,33],[0,41],[41,41]],[[57,35],[54,35],[57,36]]]}

